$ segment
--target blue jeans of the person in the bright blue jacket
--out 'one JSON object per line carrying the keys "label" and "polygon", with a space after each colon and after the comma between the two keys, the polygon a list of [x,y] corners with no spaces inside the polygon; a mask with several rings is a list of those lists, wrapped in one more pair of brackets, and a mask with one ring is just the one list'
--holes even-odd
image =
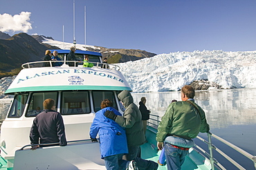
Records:
{"label": "blue jeans of the person in the bright blue jacket", "polygon": [[107,170],[125,170],[128,167],[129,161],[122,160],[122,155],[110,155],[104,157],[105,167]]}

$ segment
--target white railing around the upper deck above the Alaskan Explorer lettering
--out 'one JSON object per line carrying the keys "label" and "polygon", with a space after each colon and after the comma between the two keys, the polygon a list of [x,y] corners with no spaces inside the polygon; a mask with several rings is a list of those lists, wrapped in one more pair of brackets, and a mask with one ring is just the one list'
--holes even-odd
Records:
{"label": "white railing around the upper deck above the Alaskan Explorer lettering", "polygon": [[[44,66],[45,64],[47,64],[48,66],[47,67],[56,67],[55,66],[55,63],[62,63],[60,64],[61,66],[60,67],[66,67],[68,66],[68,64],[71,64],[73,66],[71,67],[83,67],[83,64],[86,63],[86,62],[81,62],[81,61],[39,61],[39,62],[28,62],[28,63],[25,63],[25,64],[22,64],[21,67],[22,68],[38,68],[38,67],[46,67]],[[96,67],[96,68],[102,68],[102,66],[109,66],[109,69],[110,70],[120,70],[120,66],[117,66],[115,64],[104,64],[104,63],[100,63],[100,62],[89,62],[89,63],[92,63],[94,66],[93,67]],[[106,68],[107,69],[107,68]]]}

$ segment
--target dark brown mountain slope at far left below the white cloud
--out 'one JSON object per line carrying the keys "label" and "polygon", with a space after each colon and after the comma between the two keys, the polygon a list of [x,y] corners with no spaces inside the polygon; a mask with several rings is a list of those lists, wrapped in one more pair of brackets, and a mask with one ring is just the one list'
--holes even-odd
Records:
{"label": "dark brown mountain slope at far left below the white cloud", "polygon": [[17,74],[21,64],[42,60],[45,50],[56,48],[56,46],[40,44],[26,33],[0,39],[0,77]]}

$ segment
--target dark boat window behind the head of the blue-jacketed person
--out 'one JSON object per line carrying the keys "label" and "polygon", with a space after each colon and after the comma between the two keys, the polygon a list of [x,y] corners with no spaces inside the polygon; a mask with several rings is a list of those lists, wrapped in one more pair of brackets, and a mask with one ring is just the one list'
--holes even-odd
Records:
{"label": "dark boat window behind the head of the blue-jacketed person", "polygon": [[93,91],[93,106],[95,112],[100,111],[100,104],[104,99],[110,100],[113,103],[113,108],[118,110],[115,93],[113,93],[113,91]]}

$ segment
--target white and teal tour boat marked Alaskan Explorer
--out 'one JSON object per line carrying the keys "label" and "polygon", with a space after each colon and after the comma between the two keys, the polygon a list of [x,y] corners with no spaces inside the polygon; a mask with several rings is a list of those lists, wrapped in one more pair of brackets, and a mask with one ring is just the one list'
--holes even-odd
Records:
{"label": "white and teal tour boat marked Alaskan Explorer", "polygon": [[[55,61],[23,64],[23,69],[6,91],[6,94],[15,97],[1,125],[1,170],[106,169],[100,156],[99,142],[90,140],[90,126],[104,99],[111,100],[113,107],[123,113],[124,108],[118,102],[117,95],[123,90],[131,91],[131,88],[119,66],[109,64],[109,69],[102,68],[100,53],[76,50],[75,55],[80,61],[66,61],[69,50],[57,52],[62,59],[57,62],[62,62],[62,66],[54,66]],[[92,68],[83,67],[84,55],[89,55]],[[45,67],[44,62],[50,66]],[[68,66],[72,62],[73,66]],[[35,116],[43,110],[42,104],[47,98],[55,100],[56,111],[62,114],[68,144],[66,147],[44,147],[44,144],[40,144],[38,149],[31,150],[30,127]],[[147,142],[141,146],[141,157],[155,162],[161,153],[156,147],[159,120],[157,115],[151,115],[146,133]],[[212,156],[212,148],[216,147],[210,139],[218,137],[210,133],[208,136],[209,141],[206,143],[209,145],[209,155],[195,144],[189,150],[182,169],[225,169]],[[255,162],[253,155],[241,152]],[[167,167],[159,166],[158,169]]]}

